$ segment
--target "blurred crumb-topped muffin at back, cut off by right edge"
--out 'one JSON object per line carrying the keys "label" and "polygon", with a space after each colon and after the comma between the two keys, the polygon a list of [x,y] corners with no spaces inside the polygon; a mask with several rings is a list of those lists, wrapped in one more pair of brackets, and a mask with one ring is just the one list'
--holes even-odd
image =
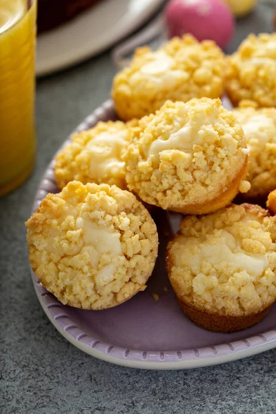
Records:
{"label": "blurred crumb-topped muffin at back, cut off by right edge", "polygon": [[227,63],[225,88],[234,106],[242,99],[276,106],[276,33],[250,34]]}

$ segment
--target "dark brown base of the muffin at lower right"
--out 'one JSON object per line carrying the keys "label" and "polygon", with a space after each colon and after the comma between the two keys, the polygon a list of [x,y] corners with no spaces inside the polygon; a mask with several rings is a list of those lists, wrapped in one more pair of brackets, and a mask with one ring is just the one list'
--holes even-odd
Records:
{"label": "dark brown base of the muffin at lower right", "polygon": [[177,302],[184,315],[200,328],[225,333],[242,331],[259,323],[268,314],[272,306],[270,305],[263,311],[246,316],[221,316],[199,311],[195,306],[188,305],[179,298],[177,298]]}

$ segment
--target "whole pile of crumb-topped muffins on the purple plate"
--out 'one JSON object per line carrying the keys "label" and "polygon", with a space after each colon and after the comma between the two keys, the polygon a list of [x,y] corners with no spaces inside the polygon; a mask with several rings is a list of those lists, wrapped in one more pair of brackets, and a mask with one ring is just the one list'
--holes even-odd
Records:
{"label": "whole pile of crumb-topped muffins on the purple plate", "polygon": [[230,57],[190,35],[139,48],[112,87],[121,121],[72,137],[56,157],[61,193],[26,223],[43,286],[85,309],[144,290],[156,206],[186,215],[166,257],[184,313],[210,331],[259,322],[276,299],[275,68],[276,34],[250,35]]}

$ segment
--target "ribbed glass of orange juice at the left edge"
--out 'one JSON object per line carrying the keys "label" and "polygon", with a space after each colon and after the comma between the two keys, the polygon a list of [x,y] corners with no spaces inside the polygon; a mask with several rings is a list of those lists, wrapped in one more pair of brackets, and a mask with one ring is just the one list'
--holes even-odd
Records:
{"label": "ribbed glass of orange juice at the left edge", "polygon": [[0,0],[0,195],[34,166],[37,0]]}

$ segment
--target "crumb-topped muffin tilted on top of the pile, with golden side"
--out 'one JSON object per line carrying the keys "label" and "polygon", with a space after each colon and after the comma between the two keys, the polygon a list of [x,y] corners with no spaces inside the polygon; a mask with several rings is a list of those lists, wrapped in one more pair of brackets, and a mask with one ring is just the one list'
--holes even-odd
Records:
{"label": "crumb-topped muffin tilted on top of the pile, with golden side", "polygon": [[124,160],[128,188],[164,210],[211,213],[250,187],[244,131],[220,99],[167,101],[133,128]]}

